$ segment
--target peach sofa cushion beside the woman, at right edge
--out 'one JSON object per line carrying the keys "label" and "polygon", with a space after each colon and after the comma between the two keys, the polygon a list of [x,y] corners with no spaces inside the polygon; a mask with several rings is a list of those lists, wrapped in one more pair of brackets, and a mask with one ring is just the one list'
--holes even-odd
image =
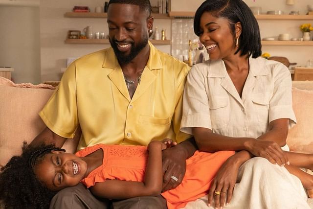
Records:
{"label": "peach sofa cushion beside the woman, at right edge", "polygon": [[292,88],[292,108],[297,124],[289,130],[287,144],[291,151],[313,151],[313,91]]}

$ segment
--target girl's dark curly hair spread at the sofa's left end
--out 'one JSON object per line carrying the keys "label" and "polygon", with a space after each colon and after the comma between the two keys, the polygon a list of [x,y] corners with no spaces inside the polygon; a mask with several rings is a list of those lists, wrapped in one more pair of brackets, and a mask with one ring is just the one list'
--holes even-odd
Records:
{"label": "girl's dark curly hair spread at the sofa's left end", "polygon": [[21,156],[13,156],[0,169],[0,206],[4,209],[46,209],[56,194],[37,180],[33,168],[51,150],[65,151],[53,144],[24,145]]}

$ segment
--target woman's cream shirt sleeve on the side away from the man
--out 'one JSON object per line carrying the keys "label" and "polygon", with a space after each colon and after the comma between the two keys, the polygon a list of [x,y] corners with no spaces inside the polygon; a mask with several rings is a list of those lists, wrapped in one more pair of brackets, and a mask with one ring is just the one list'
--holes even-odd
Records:
{"label": "woman's cream shirt sleeve on the side away from the man", "polygon": [[292,109],[291,75],[283,64],[277,64],[273,96],[269,101],[269,122],[279,118],[289,118],[289,127],[296,124],[296,118]]}

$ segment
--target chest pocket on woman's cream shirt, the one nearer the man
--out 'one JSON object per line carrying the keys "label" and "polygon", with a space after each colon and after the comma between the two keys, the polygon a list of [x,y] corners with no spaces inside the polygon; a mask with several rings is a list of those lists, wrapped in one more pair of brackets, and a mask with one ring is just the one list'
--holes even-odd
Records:
{"label": "chest pocket on woman's cream shirt, the one nearer the man", "polygon": [[224,133],[229,121],[229,98],[226,96],[212,96],[209,101],[210,118],[212,131],[215,133]]}

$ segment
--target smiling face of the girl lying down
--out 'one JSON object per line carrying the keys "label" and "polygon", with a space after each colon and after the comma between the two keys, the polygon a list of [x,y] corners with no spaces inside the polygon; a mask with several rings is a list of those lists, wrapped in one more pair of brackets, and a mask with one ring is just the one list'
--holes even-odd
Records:
{"label": "smiling face of the girl lying down", "polygon": [[73,154],[51,151],[35,166],[34,173],[50,190],[58,191],[75,186],[85,178],[87,163]]}

